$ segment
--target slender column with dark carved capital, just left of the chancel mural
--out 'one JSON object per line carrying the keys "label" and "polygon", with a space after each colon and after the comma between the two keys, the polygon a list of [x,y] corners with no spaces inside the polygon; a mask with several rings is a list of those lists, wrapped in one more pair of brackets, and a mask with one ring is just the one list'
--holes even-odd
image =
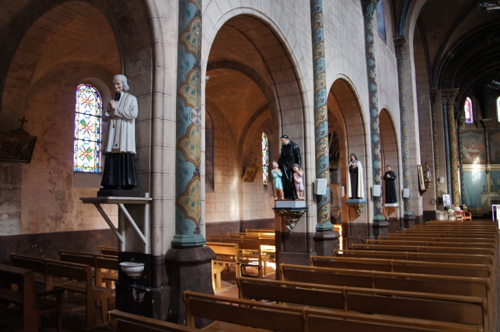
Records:
{"label": "slender column with dark carved capital, just left of the chancel mural", "polygon": [[458,154],[457,154],[457,130],[455,125],[455,101],[457,90],[442,91],[442,99],[446,101],[447,120],[449,126],[449,156],[451,164],[451,194],[453,194],[453,205],[460,202],[458,190]]}

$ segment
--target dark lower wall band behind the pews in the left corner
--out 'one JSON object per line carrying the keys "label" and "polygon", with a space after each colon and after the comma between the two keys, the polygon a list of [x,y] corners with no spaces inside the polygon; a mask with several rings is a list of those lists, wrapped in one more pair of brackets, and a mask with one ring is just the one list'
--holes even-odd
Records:
{"label": "dark lower wall band behind the pews in the left corner", "polygon": [[4,235],[0,236],[0,263],[10,264],[10,253],[59,259],[60,250],[99,253],[99,246],[117,245],[111,229]]}

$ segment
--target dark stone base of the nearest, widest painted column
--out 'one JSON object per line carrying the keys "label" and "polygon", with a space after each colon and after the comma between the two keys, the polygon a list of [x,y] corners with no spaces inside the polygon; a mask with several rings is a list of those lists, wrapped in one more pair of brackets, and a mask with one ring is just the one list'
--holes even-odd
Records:
{"label": "dark stone base of the nearest, widest painted column", "polygon": [[[165,255],[166,274],[170,287],[168,322],[186,325],[186,305],[182,293],[186,290],[214,294],[212,288],[212,259],[216,255],[207,246],[185,249],[168,249]],[[198,329],[210,321],[195,318]]]}

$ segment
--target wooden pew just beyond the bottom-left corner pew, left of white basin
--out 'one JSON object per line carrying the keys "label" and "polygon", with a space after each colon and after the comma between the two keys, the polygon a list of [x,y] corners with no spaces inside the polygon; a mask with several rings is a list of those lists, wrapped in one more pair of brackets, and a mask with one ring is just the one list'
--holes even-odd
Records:
{"label": "wooden pew just beyond the bottom-left corner pew, left of white basin", "polygon": [[[54,275],[71,279],[71,281],[53,285],[52,277]],[[102,322],[103,324],[107,324],[106,313],[108,311],[108,298],[114,294],[114,290],[92,285],[90,265],[66,261],[48,261],[45,266],[45,289],[52,290],[53,288],[85,294],[86,327],[93,327],[96,325],[95,302],[99,301],[101,303]]]}

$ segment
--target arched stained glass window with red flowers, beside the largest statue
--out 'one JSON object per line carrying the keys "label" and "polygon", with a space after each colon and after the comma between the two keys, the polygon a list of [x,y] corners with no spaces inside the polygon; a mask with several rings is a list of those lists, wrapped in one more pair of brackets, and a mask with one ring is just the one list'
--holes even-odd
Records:
{"label": "arched stained glass window with red flowers, beside the largest statue", "polygon": [[76,92],[73,170],[99,173],[101,169],[101,94],[89,84]]}

